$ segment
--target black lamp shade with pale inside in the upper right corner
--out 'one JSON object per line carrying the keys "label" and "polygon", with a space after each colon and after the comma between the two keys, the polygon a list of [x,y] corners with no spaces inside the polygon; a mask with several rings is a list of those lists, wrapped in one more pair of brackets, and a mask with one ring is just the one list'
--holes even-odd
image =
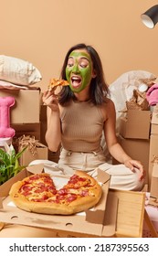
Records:
{"label": "black lamp shade with pale inside in the upper right corner", "polygon": [[141,15],[142,23],[149,28],[153,28],[158,22],[158,5],[153,5],[149,10]]}

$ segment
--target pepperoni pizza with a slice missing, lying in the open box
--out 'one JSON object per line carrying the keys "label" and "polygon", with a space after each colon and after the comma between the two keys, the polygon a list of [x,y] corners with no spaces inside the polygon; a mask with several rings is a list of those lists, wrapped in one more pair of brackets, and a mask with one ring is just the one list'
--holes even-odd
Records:
{"label": "pepperoni pizza with a slice missing, lying in the open box", "polygon": [[59,189],[47,173],[27,176],[11,187],[9,195],[16,207],[26,211],[71,215],[95,206],[101,193],[96,179],[83,171],[76,171]]}

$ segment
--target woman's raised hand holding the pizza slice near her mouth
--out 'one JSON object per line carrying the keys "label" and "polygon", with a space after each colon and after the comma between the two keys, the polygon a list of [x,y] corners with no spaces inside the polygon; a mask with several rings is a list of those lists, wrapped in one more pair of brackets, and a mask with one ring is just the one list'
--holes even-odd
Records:
{"label": "woman's raised hand holding the pizza slice near her mouth", "polygon": [[54,91],[45,91],[42,96],[42,101],[53,112],[59,112],[58,108],[58,96],[54,94]]}

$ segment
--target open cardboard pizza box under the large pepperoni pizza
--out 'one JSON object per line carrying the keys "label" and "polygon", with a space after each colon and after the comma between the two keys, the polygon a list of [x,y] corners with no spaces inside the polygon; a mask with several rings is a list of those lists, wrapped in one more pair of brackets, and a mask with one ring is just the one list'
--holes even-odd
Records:
{"label": "open cardboard pizza box under the large pepperoni pizza", "polygon": [[[99,203],[84,212],[74,215],[47,215],[26,212],[16,208],[9,195],[11,186],[26,176],[44,172],[44,165],[31,165],[11,178],[0,187],[0,221],[3,223],[20,224],[42,229],[53,229],[65,237],[112,237],[116,230],[118,198],[109,193],[111,176],[98,170],[97,180],[102,187]],[[67,183],[68,176],[54,176],[58,183]]]}

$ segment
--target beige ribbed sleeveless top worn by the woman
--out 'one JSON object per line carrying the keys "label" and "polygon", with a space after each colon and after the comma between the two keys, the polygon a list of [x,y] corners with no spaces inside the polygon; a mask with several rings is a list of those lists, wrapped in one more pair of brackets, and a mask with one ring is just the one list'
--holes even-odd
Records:
{"label": "beige ribbed sleeveless top worn by the woman", "polygon": [[73,152],[100,149],[104,118],[91,101],[70,101],[61,113],[61,144]]}

